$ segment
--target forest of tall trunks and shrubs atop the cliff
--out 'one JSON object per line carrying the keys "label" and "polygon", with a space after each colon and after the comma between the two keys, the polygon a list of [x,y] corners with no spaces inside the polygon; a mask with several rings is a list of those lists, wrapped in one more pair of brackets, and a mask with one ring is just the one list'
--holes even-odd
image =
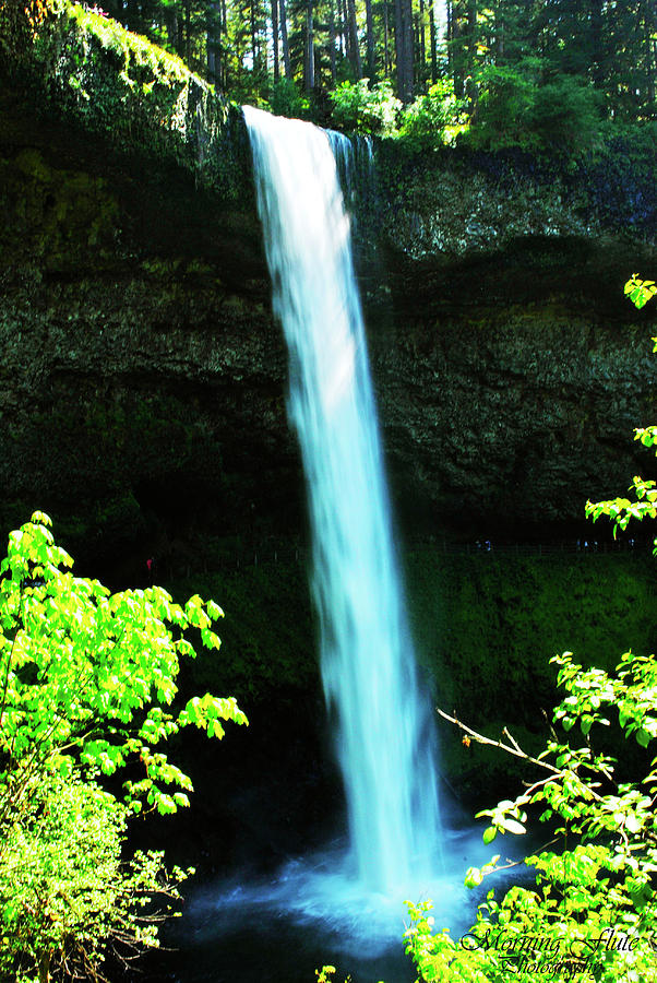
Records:
{"label": "forest of tall trunks and shrubs atop the cliff", "polygon": [[476,142],[494,145],[531,144],[531,134],[550,134],[560,114],[585,137],[605,120],[646,122],[656,114],[652,0],[103,0],[103,7],[231,98],[282,115],[330,121],[360,93],[385,104],[390,117],[394,100],[415,99],[411,118],[435,115],[439,106],[439,123],[447,112],[450,126],[471,126]]}

